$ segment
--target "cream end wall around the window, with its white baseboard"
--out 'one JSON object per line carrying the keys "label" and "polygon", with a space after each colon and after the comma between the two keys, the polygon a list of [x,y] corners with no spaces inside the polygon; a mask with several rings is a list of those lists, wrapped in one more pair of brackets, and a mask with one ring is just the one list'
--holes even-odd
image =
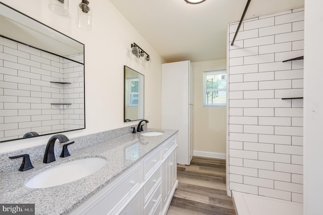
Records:
{"label": "cream end wall around the window, with its white baseboard", "polygon": [[195,62],[194,155],[225,158],[226,106],[203,106],[203,72],[225,70],[226,59]]}

